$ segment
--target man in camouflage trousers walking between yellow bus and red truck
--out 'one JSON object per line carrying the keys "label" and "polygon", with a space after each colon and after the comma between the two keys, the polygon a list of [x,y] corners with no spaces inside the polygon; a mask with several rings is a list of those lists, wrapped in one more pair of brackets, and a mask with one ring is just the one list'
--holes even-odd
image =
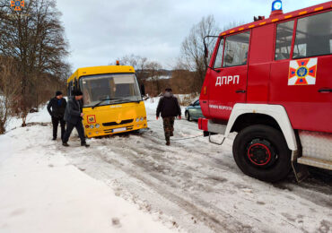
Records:
{"label": "man in camouflage trousers walking between yellow bus and red truck", "polygon": [[170,137],[174,133],[174,120],[176,116],[181,119],[181,108],[178,99],[173,96],[170,88],[165,89],[163,97],[157,107],[157,120],[162,114],[163,130],[165,132],[166,145],[170,145]]}

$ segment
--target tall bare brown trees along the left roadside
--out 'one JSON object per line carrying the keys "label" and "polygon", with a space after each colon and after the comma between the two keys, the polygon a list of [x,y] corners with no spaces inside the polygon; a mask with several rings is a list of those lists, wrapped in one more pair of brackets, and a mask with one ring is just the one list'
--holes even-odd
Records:
{"label": "tall bare brown trees along the left roadside", "polygon": [[68,45],[55,0],[30,0],[21,12],[0,0],[0,134],[9,117],[26,117],[66,88]]}

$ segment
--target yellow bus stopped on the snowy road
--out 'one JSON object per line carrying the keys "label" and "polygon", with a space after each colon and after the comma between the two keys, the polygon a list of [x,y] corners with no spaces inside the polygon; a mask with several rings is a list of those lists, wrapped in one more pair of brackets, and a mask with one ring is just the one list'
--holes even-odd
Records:
{"label": "yellow bus stopped on the snowy road", "polygon": [[133,66],[79,68],[67,80],[68,96],[83,92],[83,125],[87,137],[147,128],[144,101]]}

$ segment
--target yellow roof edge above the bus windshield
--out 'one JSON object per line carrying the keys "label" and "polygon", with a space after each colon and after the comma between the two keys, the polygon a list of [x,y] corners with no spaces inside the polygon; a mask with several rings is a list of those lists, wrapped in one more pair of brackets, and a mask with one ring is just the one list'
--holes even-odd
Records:
{"label": "yellow roof edge above the bus windshield", "polygon": [[102,65],[78,68],[68,79],[67,82],[71,82],[74,78],[80,78],[81,76],[103,74],[103,73],[135,73],[135,69],[130,65]]}

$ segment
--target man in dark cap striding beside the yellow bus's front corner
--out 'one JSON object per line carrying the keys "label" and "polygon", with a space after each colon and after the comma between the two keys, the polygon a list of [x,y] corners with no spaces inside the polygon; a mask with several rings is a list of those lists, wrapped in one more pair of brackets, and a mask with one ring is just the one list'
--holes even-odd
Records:
{"label": "man in dark cap striding beside the yellow bus's front corner", "polygon": [[68,140],[70,137],[70,134],[72,134],[72,131],[74,128],[76,128],[77,133],[81,139],[81,145],[85,147],[89,147],[85,142],[85,135],[84,135],[84,128],[83,128],[83,93],[82,91],[74,91],[74,96],[69,97],[68,103],[66,106],[66,111],[65,111],[65,120],[66,120],[66,134],[62,140],[62,144],[64,146],[69,146],[68,145]]}

